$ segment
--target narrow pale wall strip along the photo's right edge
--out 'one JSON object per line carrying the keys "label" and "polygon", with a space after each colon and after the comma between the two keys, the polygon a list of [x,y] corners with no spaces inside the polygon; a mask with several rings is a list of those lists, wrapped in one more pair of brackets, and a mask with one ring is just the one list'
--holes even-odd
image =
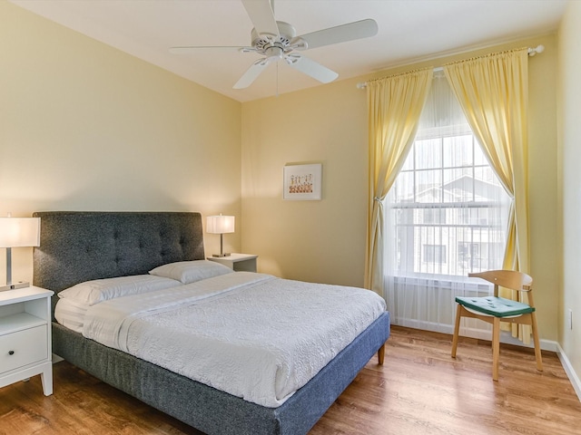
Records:
{"label": "narrow pale wall strip along the photo's right edge", "polygon": [[[559,30],[559,343],[581,376],[581,2],[569,2]],[[567,310],[573,310],[573,330]]]}

